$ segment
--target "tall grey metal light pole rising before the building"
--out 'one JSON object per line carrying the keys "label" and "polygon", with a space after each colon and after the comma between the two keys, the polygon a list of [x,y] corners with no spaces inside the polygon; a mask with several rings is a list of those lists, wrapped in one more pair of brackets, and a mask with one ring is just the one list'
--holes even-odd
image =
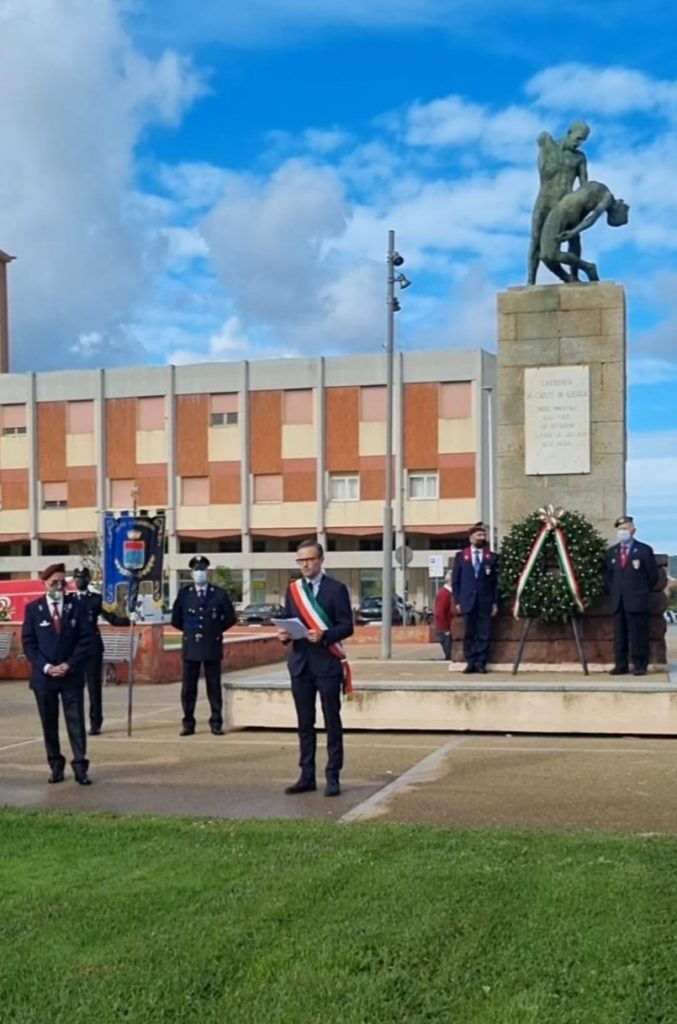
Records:
{"label": "tall grey metal light pole rising before the building", "polygon": [[388,231],[387,330],[385,342],[385,503],[383,506],[383,581],[381,584],[381,657],[392,652],[392,360],[395,334],[395,232]]}

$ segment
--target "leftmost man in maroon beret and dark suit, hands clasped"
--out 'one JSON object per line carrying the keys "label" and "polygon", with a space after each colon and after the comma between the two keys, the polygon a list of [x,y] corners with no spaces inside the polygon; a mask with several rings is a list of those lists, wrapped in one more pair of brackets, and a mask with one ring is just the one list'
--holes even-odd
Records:
{"label": "leftmost man in maroon beret and dark suit, hands clasped", "polygon": [[64,593],[66,566],[48,565],[40,579],[45,596],[26,606],[22,630],[24,653],[31,663],[30,687],[42,722],[51,768],[50,782],[64,781],[66,758],[58,739],[58,701],[73,751],[73,773],[80,785],[89,785],[84,708],[84,667],[91,635],[86,615],[72,595]]}

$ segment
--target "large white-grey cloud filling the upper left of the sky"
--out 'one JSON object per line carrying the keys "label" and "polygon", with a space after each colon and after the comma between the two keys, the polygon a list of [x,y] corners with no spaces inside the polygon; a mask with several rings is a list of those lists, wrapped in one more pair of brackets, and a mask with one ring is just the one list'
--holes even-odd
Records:
{"label": "large white-grey cloud filling the upper left of the sky", "polygon": [[[62,365],[77,339],[109,339],[162,266],[166,242],[134,193],[134,150],[201,91],[174,52],[134,49],[115,0],[0,5],[2,248],[11,266],[15,369]],[[84,352],[80,346],[81,353]]]}

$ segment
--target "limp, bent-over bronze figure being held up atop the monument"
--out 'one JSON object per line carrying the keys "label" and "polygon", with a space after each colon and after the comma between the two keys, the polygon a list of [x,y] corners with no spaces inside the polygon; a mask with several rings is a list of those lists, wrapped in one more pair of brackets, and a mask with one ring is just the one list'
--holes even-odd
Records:
{"label": "limp, bent-over bronze figure being held up atop the monument", "polygon": [[[581,258],[581,231],[591,227],[602,213],[611,227],[628,223],[630,207],[616,199],[600,181],[587,181],[557,203],[546,217],[541,231],[540,258],[560,281],[578,281],[579,270],[589,281],[599,281],[597,267]],[[568,243],[568,252],[561,249]],[[563,265],[562,265],[563,264]],[[570,271],[564,269],[570,267]]]}

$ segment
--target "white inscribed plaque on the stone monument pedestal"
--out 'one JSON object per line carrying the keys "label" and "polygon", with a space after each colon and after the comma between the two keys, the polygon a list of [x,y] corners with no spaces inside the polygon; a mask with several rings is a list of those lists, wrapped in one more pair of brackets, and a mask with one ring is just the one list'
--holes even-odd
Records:
{"label": "white inscribed plaque on the stone monument pedestal", "polygon": [[524,473],[590,472],[590,367],[524,370]]}

